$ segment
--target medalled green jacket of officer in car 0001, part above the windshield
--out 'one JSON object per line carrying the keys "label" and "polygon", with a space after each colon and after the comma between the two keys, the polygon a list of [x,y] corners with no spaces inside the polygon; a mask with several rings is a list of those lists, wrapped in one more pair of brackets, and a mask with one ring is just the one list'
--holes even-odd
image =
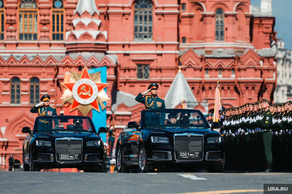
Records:
{"label": "medalled green jacket of officer in car 0001, part above the windshield", "polygon": [[156,97],[153,97],[151,95],[143,96],[143,94],[139,93],[135,100],[137,102],[143,103],[145,105],[145,108],[148,110],[165,108],[164,99],[158,96]]}

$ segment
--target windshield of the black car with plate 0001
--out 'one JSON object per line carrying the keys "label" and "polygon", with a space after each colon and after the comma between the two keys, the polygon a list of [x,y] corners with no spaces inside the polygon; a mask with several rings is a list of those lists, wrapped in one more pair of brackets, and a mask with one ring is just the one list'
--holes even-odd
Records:
{"label": "windshield of the black car with plate 0001", "polygon": [[191,109],[144,111],[145,127],[210,127],[204,115]]}

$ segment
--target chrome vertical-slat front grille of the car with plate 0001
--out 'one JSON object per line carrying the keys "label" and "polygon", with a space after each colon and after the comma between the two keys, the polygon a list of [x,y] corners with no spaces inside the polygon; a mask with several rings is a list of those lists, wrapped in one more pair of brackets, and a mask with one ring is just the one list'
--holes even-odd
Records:
{"label": "chrome vertical-slat front grille of the car with plate 0001", "polygon": [[182,158],[175,156],[179,161],[199,161],[203,158],[203,136],[191,135],[177,135],[174,136],[175,152],[201,152],[200,157]]}

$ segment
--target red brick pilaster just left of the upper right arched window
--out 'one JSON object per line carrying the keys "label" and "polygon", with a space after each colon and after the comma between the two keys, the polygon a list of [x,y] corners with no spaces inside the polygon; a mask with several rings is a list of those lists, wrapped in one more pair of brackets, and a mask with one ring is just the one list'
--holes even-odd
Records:
{"label": "red brick pilaster just left of the upper right arched window", "polygon": [[214,12],[201,12],[204,19],[203,42],[213,42],[214,38]]}

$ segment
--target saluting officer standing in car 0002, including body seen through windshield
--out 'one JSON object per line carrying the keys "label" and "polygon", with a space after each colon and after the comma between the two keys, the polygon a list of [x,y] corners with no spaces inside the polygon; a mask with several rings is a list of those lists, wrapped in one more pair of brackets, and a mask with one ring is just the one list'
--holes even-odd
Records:
{"label": "saluting officer standing in car 0002, including body seen through windshield", "polygon": [[[38,113],[38,116],[53,116],[57,115],[56,108],[49,105],[49,100],[51,97],[49,95],[44,95],[41,97],[41,103],[34,105],[31,109],[31,113]],[[52,130],[53,128],[59,128],[59,121],[58,119],[54,119],[55,125],[53,126],[52,123],[53,119],[39,119],[39,123],[37,126],[38,131],[48,131]]]}

